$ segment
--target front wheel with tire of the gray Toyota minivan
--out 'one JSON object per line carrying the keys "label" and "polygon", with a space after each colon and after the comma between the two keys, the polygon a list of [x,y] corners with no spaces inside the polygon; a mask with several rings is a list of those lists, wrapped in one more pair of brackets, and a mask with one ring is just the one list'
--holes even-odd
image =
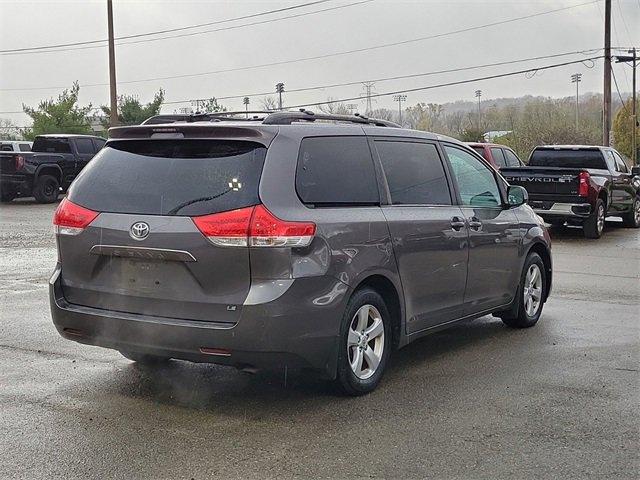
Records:
{"label": "front wheel with tire of the gray Toyota minivan", "polygon": [[[537,274],[533,274],[534,271]],[[512,328],[530,328],[538,323],[544,306],[544,295],[548,288],[544,272],[544,262],[540,255],[534,252],[529,253],[520,274],[516,304],[511,311],[501,315],[505,325]],[[535,301],[536,291],[537,302]]]}

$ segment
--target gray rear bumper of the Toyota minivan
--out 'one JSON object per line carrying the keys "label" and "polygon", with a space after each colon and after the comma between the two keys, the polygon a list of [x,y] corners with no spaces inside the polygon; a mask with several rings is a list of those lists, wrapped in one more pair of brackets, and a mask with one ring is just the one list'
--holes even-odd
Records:
{"label": "gray rear bumper of the Toyota minivan", "polygon": [[[61,269],[49,282],[53,323],[64,338],[88,345],[239,368],[311,368],[333,378],[345,294],[330,304],[310,292],[335,291],[330,277],[296,279],[276,300],[244,305],[236,324],[152,317],[73,305]],[[344,285],[344,284],[342,284]],[[204,351],[228,350],[230,354]]]}

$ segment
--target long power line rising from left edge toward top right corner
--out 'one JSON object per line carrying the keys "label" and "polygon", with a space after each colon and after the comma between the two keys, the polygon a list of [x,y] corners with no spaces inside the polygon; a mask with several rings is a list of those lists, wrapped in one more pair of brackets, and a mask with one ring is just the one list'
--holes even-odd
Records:
{"label": "long power line rising from left edge toward top right corner", "polygon": [[[351,54],[354,54],[354,53],[362,53],[362,52],[367,52],[367,51],[372,51],[372,50],[379,50],[379,49],[382,49],[382,48],[395,47],[395,46],[399,46],[399,45],[407,45],[407,44],[410,44],[410,43],[422,42],[422,41],[426,41],[426,40],[432,40],[432,39],[435,39],[435,38],[442,38],[442,37],[446,37],[446,36],[450,36],[450,35],[456,35],[456,34],[459,34],[459,33],[466,33],[466,32],[471,32],[471,31],[480,30],[480,29],[484,29],[484,28],[495,27],[495,26],[504,25],[504,24],[507,24],[507,23],[513,23],[513,22],[517,22],[517,21],[521,21],[521,20],[530,19],[530,18],[533,18],[533,17],[539,17],[541,15],[549,15],[551,13],[565,11],[565,10],[569,10],[569,9],[572,9],[572,8],[581,7],[581,6],[584,6],[584,5],[591,5],[591,4],[594,4],[594,3],[597,4],[598,2],[601,2],[601,1],[602,0],[591,0],[589,2],[580,3],[580,4],[577,4],[577,5],[572,5],[572,6],[568,6],[568,7],[557,8],[557,9],[554,9],[554,10],[548,10],[548,11],[545,11],[545,12],[538,12],[538,13],[534,13],[534,14],[530,14],[530,15],[524,15],[524,16],[521,16],[521,17],[513,17],[513,18],[510,18],[510,19],[507,19],[507,20],[501,20],[501,21],[497,21],[497,22],[486,23],[486,24],[483,24],[483,25],[476,25],[476,26],[473,26],[473,27],[467,27],[467,28],[463,28],[463,29],[459,29],[459,30],[453,30],[453,31],[449,31],[449,32],[444,32],[444,33],[439,33],[439,34],[434,34],[434,35],[428,35],[428,36],[425,36],[425,37],[418,37],[418,38],[413,38],[413,39],[408,39],[408,40],[402,40],[402,41],[398,41],[398,42],[374,45],[374,46],[370,46],[370,47],[362,47],[362,48],[356,48],[356,49],[351,49],[351,50],[343,50],[343,51],[340,51],[340,52],[333,52],[333,53],[327,53],[327,54],[321,54],[321,55],[314,55],[314,56],[310,56],[310,57],[296,58],[296,59],[291,59],[291,60],[282,60],[282,61],[279,61],[279,62],[263,63],[263,64],[257,64],[257,65],[243,66],[243,67],[227,68],[227,69],[221,69],[221,70],[213,70],[213,71],[208,71],[208,72],[186,73],[186,74],[180,74],[180,75],[169,75],[169,76],[164,76],[164,77],[153,77],[153,78],[144,78],[144,79],[138,79],[138,80],[128,80],[128,81],[118,82],[118,84],[124,85],[124,84],[132,84],[132,83],[153,82],[153,81],[158,81],[158,80],[172,80],[172,79],[177,79],[177,78],[202,77],[202,76],[215,75],[215,74],[220,74],[220,73],[239,72],[239,71],[252,70],[252,69],[256,69],[256,68],[265,68],[265,67],[273,67],[273,66],[280,66],[280,65],[288,65],[288,64],[292,64],[292,63],[305,62],[305,61],[311,61],[311,60],[321,60],[321,59],[325,59],[325,58],[331,58],[331,57],[342,56],[342,55],[351,55]],[[103,87],[105,85],[108,85],[108,83],[93,83],[93,84],[84,84],[84,85],[81,84],[80,86],[84,87],[84,88],[87,88],[87,87]],[[3,88],[3,89],[0,89],[0,90],[1,91],[30,91],[30,90],[50,90],[50,89],[60,89],[60,88],[65,88],[65,87]]]}

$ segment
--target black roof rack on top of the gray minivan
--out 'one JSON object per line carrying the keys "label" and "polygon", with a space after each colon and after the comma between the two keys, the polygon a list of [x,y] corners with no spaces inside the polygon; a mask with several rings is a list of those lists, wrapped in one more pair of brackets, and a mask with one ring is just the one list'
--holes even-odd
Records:
{"label": "black roof rack on top of the gray minivan", "polygon": [[400,125],[388,120],[369,118],[356,113],[355,115],[334,115],[320,113],[316,114],[311,110],[301,108],[298,111],[271,111],[271,110],[251,110],[236,112],[213,112],[213,113],[191,113],[191,114],[168,114],[155,115],[142,122],[142,125],[159,125],[163,123],[176,122],[255,122],[261,121],[265,125],[291,125],[295,122],[315,122],[333,121],[344,123],[357,123],[365,125],[375,125],[377,127],[401,128]]}

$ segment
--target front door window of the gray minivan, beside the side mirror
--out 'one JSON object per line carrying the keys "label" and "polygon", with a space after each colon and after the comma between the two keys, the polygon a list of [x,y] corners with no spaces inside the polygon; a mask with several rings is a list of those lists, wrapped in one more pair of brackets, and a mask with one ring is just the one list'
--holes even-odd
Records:
{"label": "front door window of the gray minivan, beside the side mirror", "polygon": [[463,205],[497,207],[502,205],[493,172],[473,155],[450,145],[444,146]]}

